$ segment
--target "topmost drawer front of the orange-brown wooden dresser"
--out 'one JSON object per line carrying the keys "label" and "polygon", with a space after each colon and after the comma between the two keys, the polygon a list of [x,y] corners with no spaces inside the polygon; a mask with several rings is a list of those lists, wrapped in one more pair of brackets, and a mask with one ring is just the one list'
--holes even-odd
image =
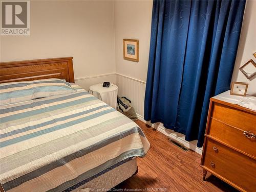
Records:
{"label": "topmost drawer front of the orange-brown wooden dresser", "polygon": [[256,133],[256,115],[253,113],[214,102],[211,117],[230,126]]}

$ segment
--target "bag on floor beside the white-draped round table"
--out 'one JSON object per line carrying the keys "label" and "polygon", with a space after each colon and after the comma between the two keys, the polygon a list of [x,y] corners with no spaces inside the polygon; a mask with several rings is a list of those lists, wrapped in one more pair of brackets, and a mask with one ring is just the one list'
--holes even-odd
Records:
{"label": "bag on floor beside the white-draped round table", "polygon": [[138,120],[136,112],[132,106],[132,102],[125,97],[117,97],[117,110],[131,118],[133,121]]}

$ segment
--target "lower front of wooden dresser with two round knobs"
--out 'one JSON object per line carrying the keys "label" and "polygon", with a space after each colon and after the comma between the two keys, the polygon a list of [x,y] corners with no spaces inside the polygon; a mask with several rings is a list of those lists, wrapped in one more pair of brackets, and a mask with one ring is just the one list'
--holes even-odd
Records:
{"label": "lower front of wooden dresser with two round knobs", "polygon": [[256,191],[256,161],[206,138],[202,165],[246,191]]}

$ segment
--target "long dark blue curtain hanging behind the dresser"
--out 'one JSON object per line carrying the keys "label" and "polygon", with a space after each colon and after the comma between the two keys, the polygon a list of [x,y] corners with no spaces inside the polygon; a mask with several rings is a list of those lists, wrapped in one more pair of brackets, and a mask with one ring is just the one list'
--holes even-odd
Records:
{"label": "long dark blue curtain hanging behind the dresser", "polygon": [[245,1],[153,3],[144,119],[198,139],[210,97],[229,89]]}

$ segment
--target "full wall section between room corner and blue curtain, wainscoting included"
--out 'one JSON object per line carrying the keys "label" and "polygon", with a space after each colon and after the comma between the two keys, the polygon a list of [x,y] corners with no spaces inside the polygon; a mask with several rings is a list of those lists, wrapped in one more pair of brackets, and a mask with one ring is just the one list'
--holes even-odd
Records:
{"label": "full wall section between room corner and blue curtain, wainscoting included", "polygon": [[[118,94],[129,98],[143,116],[153,1],[115,1],[114,7]],[[139,39],[139,62],[123,59],[123,39]]]}

